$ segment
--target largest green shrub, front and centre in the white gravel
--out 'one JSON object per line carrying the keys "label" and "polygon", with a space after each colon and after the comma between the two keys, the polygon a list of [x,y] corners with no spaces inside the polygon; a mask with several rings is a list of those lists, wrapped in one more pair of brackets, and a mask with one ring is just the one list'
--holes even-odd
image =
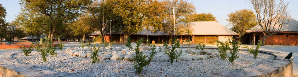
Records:
{"label": "largest green shrub, front and centre in the white gravel", "polygon": [[137,43],[137,46],[135,49],[136,57],[134,58],[134,69],[137,74],[140,74],[143,71],[144,66],[146,67],[147,65],[150,64],[150,62],[153,59],[154,54],[156,53],[156,51],[155,51],[156,46],[153,44],[150,57],[146,60],[146,55],[143,55],[142,51],[139,51],[140,50],[139,46],[142,42],[143,42],[143,39],[141,38],[139,40],[139,42]]}

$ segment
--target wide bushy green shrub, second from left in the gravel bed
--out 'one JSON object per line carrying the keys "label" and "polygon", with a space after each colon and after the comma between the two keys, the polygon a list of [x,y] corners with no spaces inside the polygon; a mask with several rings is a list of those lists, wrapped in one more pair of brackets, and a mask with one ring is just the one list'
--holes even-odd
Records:
{"label": "wide bushy green shrub, second from left in the gravel bed", "polygon": [[43,62],[47,62],[47,54],[51,54],[51,56],[57,55],[55,52],[55,46],[53,46],[53,41],[51,41],[50,38],[45,37],[45,42],[43,44],[40,44],[39,42],[35,46],[36,51],[41,53],[41,56],[43,58]]}

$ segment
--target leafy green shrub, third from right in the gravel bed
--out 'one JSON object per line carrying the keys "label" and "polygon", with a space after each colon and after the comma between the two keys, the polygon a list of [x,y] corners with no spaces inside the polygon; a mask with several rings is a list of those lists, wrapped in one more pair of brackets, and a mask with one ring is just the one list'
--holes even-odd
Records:
{"label": "leafy green shrub, third from right in the gravel bed", "polygon": [[226,41],[225,43],[217,41],[217,47],[219,48],[219,56],[221,56],[222,60],[225,60],[225,58],[227,58],[227,50],[230,49],[228,41]]}

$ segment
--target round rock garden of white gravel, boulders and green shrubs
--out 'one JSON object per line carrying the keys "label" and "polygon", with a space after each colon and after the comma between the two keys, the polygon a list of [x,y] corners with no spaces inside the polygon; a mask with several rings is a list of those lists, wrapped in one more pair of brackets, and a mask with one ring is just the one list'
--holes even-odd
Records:
{"label": "round rock garden of white gravel, boulders and green shrubs", "polygon": [[27,56],[24,54],[26,52],[13,54],[13,58],[23,64],[55,72],[91,77],[199,76],[256,66],[274,58],[270,54],[253,55],[258,48],[240,51],[240,46],[232,42],[231,46],[228,42],[219,42],[218,47],[205,49],[204,45],[199,44],[196,48],[183,48],[175,42],[171,46],[139,42],[119,47],[69,47],[45,57],[40,55],[41,51],[32,50]]}

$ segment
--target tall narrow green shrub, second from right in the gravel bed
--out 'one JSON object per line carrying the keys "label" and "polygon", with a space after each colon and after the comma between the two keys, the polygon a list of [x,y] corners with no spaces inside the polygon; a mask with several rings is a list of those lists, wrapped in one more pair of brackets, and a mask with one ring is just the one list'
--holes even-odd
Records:
{"label": "tall narrow green shrub, second from right in the gravel bed", "polygon": [[233,64],[234,60],[238,58],[237,53],[239,51],[239,44],[235,41],[232,40],[232,51],[230,51],[231,56],[229,57],[229,61]]}

